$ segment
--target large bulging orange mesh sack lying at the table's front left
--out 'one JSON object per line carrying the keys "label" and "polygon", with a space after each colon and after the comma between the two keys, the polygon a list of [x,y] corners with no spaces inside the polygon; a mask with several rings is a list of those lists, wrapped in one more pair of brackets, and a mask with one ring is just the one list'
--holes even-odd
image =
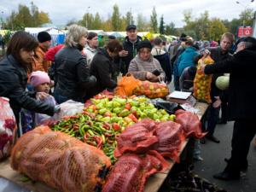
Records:
{"label": "large bulging orange mesh sack lying at the table's front left", "polygon": [[48,126],[20,137],[11,154],[13,169],[64,192],[96,191],[110,165],[101,150]]}

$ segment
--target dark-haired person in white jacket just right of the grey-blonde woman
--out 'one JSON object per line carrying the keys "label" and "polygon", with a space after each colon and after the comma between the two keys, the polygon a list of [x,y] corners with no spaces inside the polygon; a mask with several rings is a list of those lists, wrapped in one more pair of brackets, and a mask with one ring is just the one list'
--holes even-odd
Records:
{"label": "dark-haired person in white jacket just right of the grey-blonde woman", "polygon": [[86,56],[87,65],[90,67],[90,62],[92,61],[94,55],[97,53],[97,47],[99,45],[98,35],[96,32],[89,32],[87,37],[87,42],[83,52]]}

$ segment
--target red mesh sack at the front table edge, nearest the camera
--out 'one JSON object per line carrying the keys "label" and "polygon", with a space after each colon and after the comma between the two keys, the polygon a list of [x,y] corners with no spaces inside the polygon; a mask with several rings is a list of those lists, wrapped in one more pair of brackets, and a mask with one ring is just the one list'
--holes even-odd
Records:
{"label": "red mesh sack at the front table edge, nearest the camera", "polygon": [[144,155],[124,154],[108,174],[102,192],[142,192],[147,177],[167,167],[166,160],[156,151]]}

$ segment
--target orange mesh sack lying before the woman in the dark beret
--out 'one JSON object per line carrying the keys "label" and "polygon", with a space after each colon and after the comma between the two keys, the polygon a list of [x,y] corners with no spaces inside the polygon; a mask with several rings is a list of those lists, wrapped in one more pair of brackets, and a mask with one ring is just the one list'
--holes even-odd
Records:
{"label": "orange mesh sack lying before the woman in the dark beret", "polygon": [[169,90],[166,84],[152,83],[149,81],[141,81],[139,85],[133,90],[136,96],[147,96],[148,98],[162,98],[167,96]]}

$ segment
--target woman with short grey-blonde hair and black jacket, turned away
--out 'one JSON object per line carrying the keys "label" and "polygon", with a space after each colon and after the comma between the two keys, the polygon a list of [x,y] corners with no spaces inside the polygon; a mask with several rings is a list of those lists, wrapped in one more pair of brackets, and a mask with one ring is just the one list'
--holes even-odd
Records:
{"label": "woman with short grey-blonde hair and black jacket, turned away", "polygon": [[69,27],[65,47],[55,55],[55,100],[58,103],[72,99],[84,102],[86,91],[96,84],[90,76],[85,56],[87,30],[83,26]]}

